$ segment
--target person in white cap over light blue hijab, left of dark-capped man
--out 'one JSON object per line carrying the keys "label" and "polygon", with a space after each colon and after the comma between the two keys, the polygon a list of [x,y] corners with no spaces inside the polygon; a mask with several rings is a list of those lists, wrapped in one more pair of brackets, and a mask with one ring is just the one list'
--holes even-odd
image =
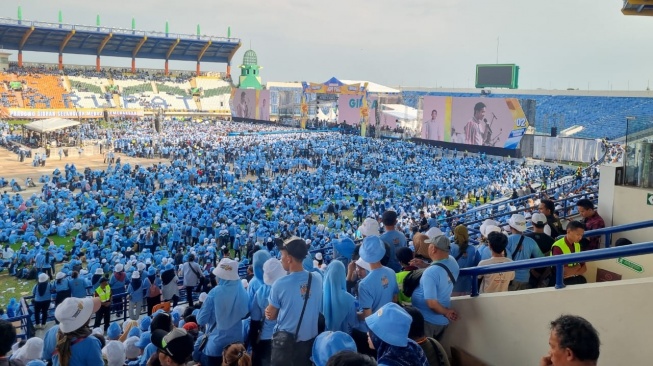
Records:
{"label": "person in white cap over light blue hijab, left of dark-capped man", "polygon": [[209,340],[204,353],[210,365],[222,363],[222,349],[243,341],[242,319],[247,315],[249,299],[238,276],[238,262],[222,258],[213,274],[218,285],[211,289],[202,304],[197,323],[206,326]]}

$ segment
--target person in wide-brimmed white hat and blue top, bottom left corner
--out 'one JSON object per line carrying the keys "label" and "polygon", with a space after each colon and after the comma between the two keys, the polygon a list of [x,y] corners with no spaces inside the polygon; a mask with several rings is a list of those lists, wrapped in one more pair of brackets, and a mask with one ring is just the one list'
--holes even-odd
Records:
{"label": "person in wide-brimmed white hat and blue top, bottom left corner", "polygon": [[54,311],[59,321],[57,345],[52,355],[53,366],[103,365],[102,345],[91,335],[88,324],[91,316],[100,310],[97,297],[78,299],[69,297]]}

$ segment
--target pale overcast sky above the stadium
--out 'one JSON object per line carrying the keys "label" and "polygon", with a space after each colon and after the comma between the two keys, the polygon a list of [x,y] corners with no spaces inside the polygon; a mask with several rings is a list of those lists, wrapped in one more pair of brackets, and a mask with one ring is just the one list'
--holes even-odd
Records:
{"label": "pale overcast sky above the stadium", "polygon": [[[621,0],[0,0],[0,16],[232,36],[258,54],[267,81],[370,80],[390,86],[473,87],[475,65],[521,67],[521,89],[644,90],[653,79],[653,17],[621,14]],[[0,40],[0,44],[1,44]],[[15,59],[15,56],[14,56]],[[26,53],[25,61],[56,62]],[[94,57],[64,62],[95,64]],[[105,58],[106,66],[129,59]],[[162,61],[137,60],[163,68]],[[194,70],[194,63],[171,62]],[[224,71],[225,65],[203,64]],[[234,73],[238,69],[234,67]]]}

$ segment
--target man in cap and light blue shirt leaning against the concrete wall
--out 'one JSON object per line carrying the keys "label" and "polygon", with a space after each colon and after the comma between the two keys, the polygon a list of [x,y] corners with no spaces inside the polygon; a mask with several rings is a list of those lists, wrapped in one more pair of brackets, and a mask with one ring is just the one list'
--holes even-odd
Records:
{"label": "man in cap and light blue shirt leaning against the concrete wall", "polygon": [[433,263],[422,273],[411,300],[424,315],[426,336],[440,340],[449,322],[458,320],[458,313],[449,307],[460,269],[456,259],[449,255],[449,238],[439,235],[424,242],[429,245],[428,253]]}

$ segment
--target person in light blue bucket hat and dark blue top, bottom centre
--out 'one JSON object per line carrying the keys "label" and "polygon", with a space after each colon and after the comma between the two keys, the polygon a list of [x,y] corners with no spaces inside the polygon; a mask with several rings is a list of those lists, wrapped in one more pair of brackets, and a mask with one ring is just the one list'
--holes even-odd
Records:
{"label": "person in light blue bucket hat and dark blue top, bottom centre", "polygon": [[417,342],[408,338],[413,318],[395,303],[387,303],[365,318],[370,348],[376,361],[384,366],[429,366]]}

